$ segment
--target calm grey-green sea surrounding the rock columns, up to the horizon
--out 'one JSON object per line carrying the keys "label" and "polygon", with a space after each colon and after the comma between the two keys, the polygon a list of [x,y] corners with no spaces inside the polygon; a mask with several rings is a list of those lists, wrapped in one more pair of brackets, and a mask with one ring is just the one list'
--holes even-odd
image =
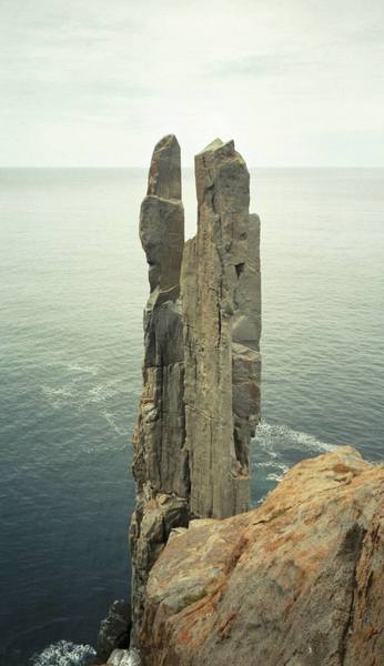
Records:
{"label": "calm grey-green sea surrounding the rock columns, up to the horizon", "polygon": [[[108,605],[129,594],[145,181],[0,170],[1,665],[81,664],[90,648],[75,646],[94,645]],[[184,204],[190,236],[191,171]],[[384,170],[257,170],[251,210],[263,271],[255,504],[334,445],[383,458]]]}

